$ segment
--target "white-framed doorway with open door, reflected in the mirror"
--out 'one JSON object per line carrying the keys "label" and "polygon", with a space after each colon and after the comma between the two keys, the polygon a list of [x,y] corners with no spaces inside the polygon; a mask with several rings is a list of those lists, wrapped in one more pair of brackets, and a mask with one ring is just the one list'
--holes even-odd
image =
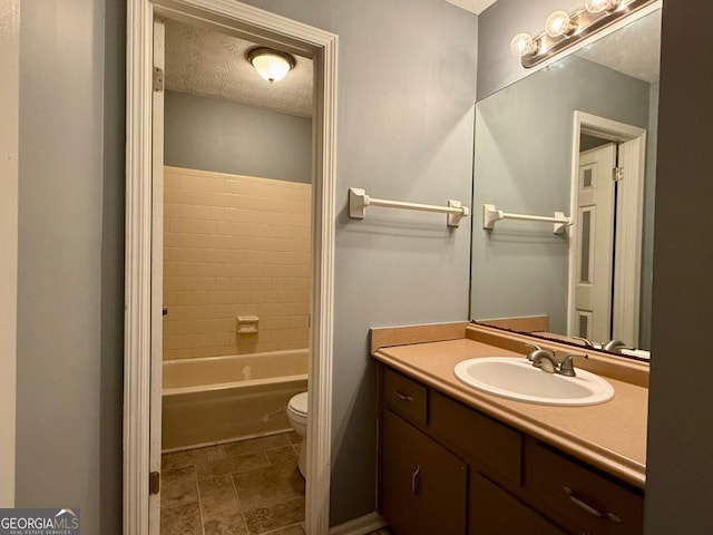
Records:
{"label": "white-framed doorway with open door, reflected in the mirror", "polygon": [[567,332],[638,344],[646,130],[575,111]]}

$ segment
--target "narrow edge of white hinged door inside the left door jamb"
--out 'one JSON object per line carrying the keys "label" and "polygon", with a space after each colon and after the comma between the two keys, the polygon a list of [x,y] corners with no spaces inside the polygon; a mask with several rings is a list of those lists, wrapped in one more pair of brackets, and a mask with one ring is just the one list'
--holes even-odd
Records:
{"label": "narrow edge of white hinged door inside the left door jamb", "polygon": [[[163,369],[163,302],[164,302],[164,90],[165,28],[163,20],[154,20],[154,78],[152,108],[152,388],[149,480],[160,474],[160,411]],[[160,477],[160,476],[159,476]],[[160,484],[149,495],[148,533],[160,533]]]}

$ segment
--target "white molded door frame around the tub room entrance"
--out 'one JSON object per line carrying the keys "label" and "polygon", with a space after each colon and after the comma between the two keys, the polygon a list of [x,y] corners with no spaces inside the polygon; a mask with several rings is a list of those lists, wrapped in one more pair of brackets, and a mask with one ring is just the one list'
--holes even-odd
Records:
{"label": "white molded door frame around the tub room entrance", "polygon": [[123,533],[149,533],[152,74],[155,14],[199,25],[218,25],[223,30],[242,38],[265,45],[275,43],[314,60],[313,304],[305,525],[307,533],[326,535],[331,471],[338,37],[233,0],[128,0],[127,4]]}

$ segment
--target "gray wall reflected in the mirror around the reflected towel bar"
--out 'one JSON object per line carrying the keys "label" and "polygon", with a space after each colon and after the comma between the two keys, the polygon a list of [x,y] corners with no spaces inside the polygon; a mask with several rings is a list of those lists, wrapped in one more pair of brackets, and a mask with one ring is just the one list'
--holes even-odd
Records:
{"label": "gray wall reflected in the mirror around the reflected towel bar", "polygon": [[566,234],[519,222],[485,231],[478,215],[486,203],[506,212],[570,215],[574,111],[646,128],[648,99],[648,84],[568,57],[478,103],[471,318],[546,314],[554,332],[567,331]]}

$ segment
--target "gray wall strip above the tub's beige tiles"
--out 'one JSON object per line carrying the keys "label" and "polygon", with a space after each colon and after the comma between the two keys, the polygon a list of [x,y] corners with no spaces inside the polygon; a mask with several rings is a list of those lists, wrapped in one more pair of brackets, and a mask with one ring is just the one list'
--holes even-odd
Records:
{"label": "gray wall strip above the tub's beige tiles", "polygon": [[312,119],[166,91],[165,163],[176,167],[312,179]]}

